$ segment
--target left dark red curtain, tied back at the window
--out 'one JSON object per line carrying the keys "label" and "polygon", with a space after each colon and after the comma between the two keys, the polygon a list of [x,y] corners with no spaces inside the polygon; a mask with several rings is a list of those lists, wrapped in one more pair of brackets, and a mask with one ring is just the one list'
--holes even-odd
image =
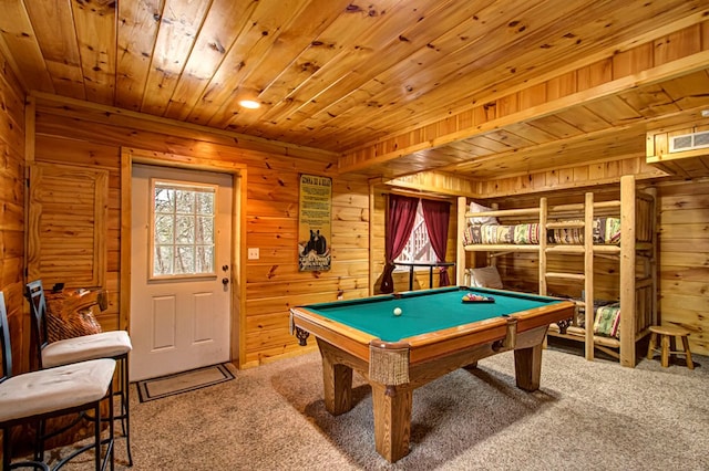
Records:
{"label": "left dark red curtain, tied back at the window", "polygon": [[394,280],[392,273],[394,271],[393,261],[401,254],[407,247],[413,222],[417,219],[418,198],[405,197],[401,195],[389,195],[389,213],[387,214],[386,242],[384,242],[384,273],[381,278],[381,292],[393,293]]}

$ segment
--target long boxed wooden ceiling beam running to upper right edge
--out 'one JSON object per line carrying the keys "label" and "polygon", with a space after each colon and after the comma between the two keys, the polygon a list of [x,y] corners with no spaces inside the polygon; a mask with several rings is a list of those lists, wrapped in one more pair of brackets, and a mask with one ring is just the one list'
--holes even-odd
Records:
{"label": "long boxed wooden ceiling beam running to upper right edge", "polygon": [[[575,70],[544,76],[544,82],[526,84],[525,88],[507,91],[506,95],[497,92],[495,96],[479,101],[472,109],[346,151],[339,161],[340,171],[362,171],[405,155],[573,109],[579,104],[603,103],[619,93],[702,70],[709,48],[707,41],[702,41],[707,28],[701,27],[707,22],[702,23],[700,19],[695,14],[674,25],[684,28],[667,27],[660,31],[661,36],[651,40],[643,36],[627,42],[624,50],[607,50],[606,56],[594,64],[576,64]],[[684,41],[674,41],[677,34],[684,34]],[[567,85],[559,88],[559,84]],[[534,100],[530,100],[531,96]]]}

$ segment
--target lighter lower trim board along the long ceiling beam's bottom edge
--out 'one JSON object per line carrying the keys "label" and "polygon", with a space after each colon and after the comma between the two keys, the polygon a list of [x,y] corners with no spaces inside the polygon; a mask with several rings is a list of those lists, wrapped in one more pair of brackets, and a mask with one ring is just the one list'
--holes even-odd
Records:
{"label": "lighter lower trim board along the long ceiling beam's bottom edge", "polygon": [[[607,96],[612,96],[615,93],[620,93],[626,90],[633,90],[645,84],[657,83],[662,80],[670,80],[678,76],[681,73],[680,71],[702,69],[707,63],[709,63],[709,51],[702,51],[698,54],[693,54],[688,57],[682,57],[681,60],[656,66],[650,71],[641,71],[640,73],[618,78],[603,85],[595,86],[593,88],[579,91],[573,95],[547,102],[541,106],[527,108],[514,115],[508,115],[503,118],[495,119],[494,122],[479,125],[474,128],[453,133],[444,137],[438,137],[430,142],[430,146],[436,147],[453,140],[460,140],[462,138],[471,137],[472,135],[483,134],[486,130],[492,129],[493,127],[504,127],[504,125],[508,123],[527,121],[530,119],[530,116],[548,116],[554,112],[577,106],[582,103],[587,106],[590,102],[600,101]],[[421,145],[415,147],[417,148],[412,151],[421,150]],[[376,160],[381,163],[390,160],[391,158],[401,157],[407,153],[407,149],[398,149],[394,153],[389,153],[383,156],[377,156]],[[367,166],[366,164],[367,163],[360,163],[359,165],[352,166],[351,168],[361,169],[362,166]],[[349,169],[341,168],[341,171],[349,171]]]}

